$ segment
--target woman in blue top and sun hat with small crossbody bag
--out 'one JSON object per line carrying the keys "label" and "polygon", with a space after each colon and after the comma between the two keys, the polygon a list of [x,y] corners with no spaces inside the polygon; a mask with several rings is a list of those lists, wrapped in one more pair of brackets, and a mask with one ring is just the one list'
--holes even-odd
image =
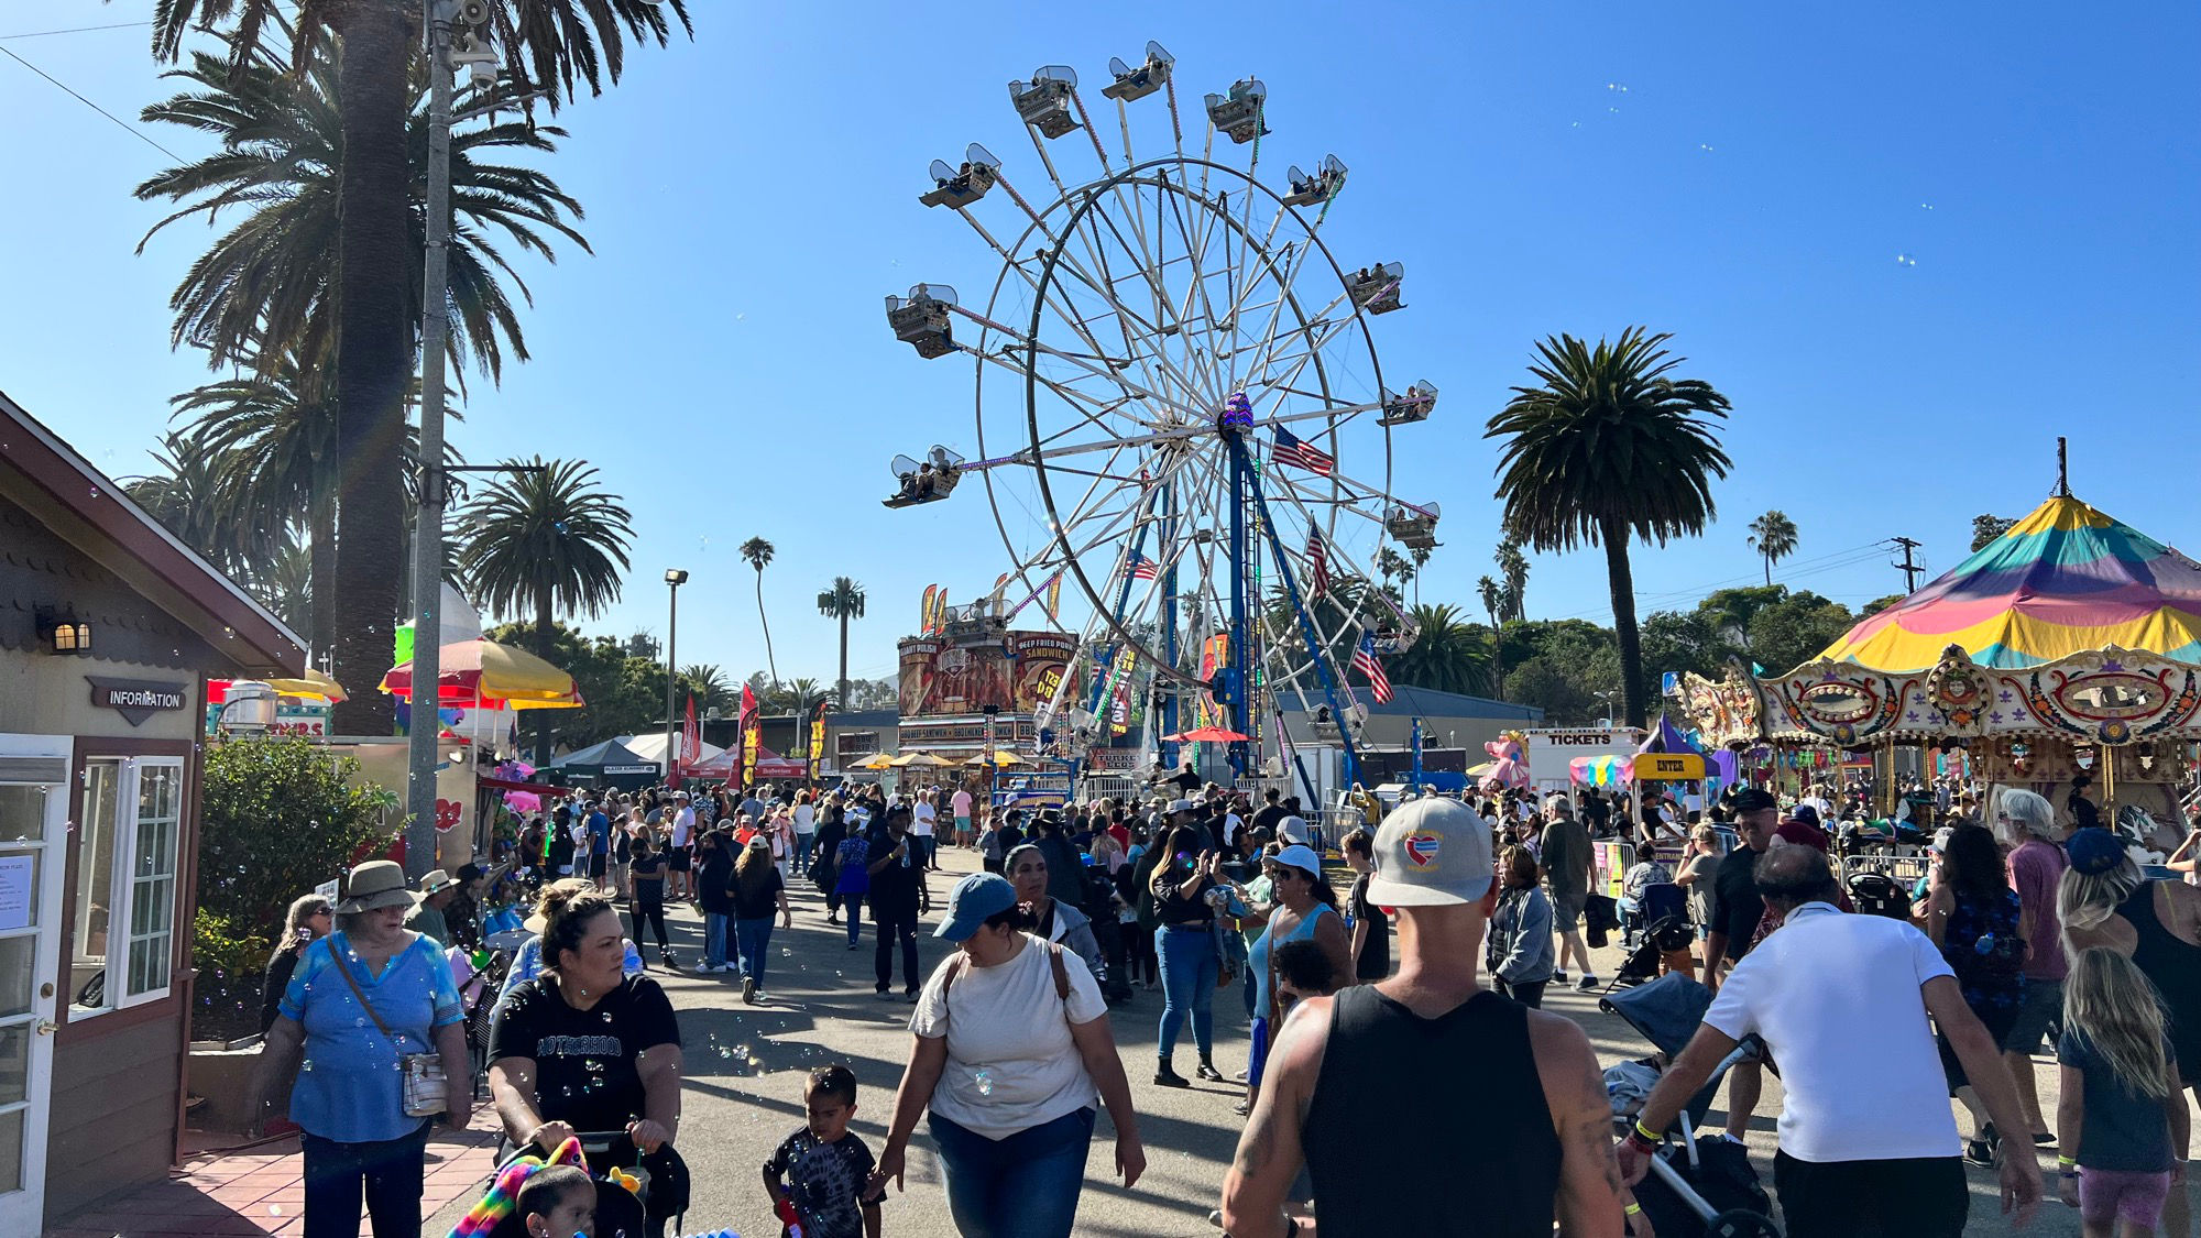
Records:
{"label": "woman in blue top and sun hat with small crossbody bag", "polygon": [[299,958],[253,1068],[255,1112],[297,1068],[291,1121],[304,1128],[306,1238],[359,1238],[361,1190],[374,1238],[420,1236],[429,1119],[405,1115],[401,1057],[442,1057],[442,1121],[467,1126],[464,1011],[442,947],[405,930],[412,905],[396,864],[352,870],[337,932]]}

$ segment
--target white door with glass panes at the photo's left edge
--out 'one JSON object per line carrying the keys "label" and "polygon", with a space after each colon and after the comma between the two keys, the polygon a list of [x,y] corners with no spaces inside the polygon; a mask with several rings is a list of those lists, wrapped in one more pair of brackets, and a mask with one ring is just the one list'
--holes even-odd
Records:
{"label": "white door with glass panes at the photo's left edge", "polygon": [[68,736],[0,734],[0,1234],[46,1212]]}

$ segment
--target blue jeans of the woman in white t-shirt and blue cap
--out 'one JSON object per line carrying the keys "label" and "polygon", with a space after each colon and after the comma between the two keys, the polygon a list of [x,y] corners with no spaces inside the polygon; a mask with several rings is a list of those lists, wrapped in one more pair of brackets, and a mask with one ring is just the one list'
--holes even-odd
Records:
{"label": "blue jeans of the woman in white t-shirt and blue cap", "polygon": [[931,1115],[933,1148],[946,1170],[949,1214],[964,1238],[1070,1238],[1085,1185],[1094,1110],[986,1139]]}

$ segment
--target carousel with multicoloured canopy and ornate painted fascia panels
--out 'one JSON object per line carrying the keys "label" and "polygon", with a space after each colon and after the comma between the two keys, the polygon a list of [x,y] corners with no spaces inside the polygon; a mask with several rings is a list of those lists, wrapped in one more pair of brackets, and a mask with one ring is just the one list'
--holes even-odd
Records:
{"label": "carousel with multicoloured canopy and ornate painted fascia panels", "polygon": [[[2201,564],[2060,489],[2007,533],[1778,676],[1684,676],[1728,747],[1963,749],[1990,784],[2177,833],[2201,738]],[[1880,780],[1888,786],[1893,780]],[[1886,804],[1882,804],[1882,811]]]}

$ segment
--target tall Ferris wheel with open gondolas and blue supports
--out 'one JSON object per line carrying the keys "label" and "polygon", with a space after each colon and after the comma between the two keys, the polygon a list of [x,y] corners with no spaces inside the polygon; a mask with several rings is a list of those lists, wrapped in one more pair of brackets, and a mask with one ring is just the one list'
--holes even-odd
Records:
{"label": "tall Ferris wheel with open gondolas and blue supports", "polygon": [[[1045,189],[1019,192],[977,143],[933,161],[920,203],[960,216],[999,267],[982,300],[918,284],[887,297],[887,322],[918,357],[973,361],[975,456],[896,456],[885,502],[940,502],[975,474],[1010,555],[995,615],[1039,606],[1081,632],[1039,709],[1043,745],[1076,760],[1112,707],[1151,701],[1162,736],[1241,736],[1224,742],[1248,773],[1296,705],[1354,778],[1367,709],[1347,667],[1415,639],[1373,584],[1378,555],[1437,544],[1437,507],[1391,496],[1393,430],[1437,405],[1428,381],[1387,385],[1376,352],[1371,319],[1404,308],[1404,267],[1323,242],[1347,185],[1336,156],[1292,165],[1283,192],[1259,178],[1259,79],[1206,95],[1189,134],[1160,44],[1109,70],[1114,117],[1085,108],[1065,66],[1008,84]],[[1153,95],[1167,145],[1140,156],[1131,112]],[[1065,172],[1087,148],[1098,174]],[[1160,760],[1178,762],[1175,740]]]}

